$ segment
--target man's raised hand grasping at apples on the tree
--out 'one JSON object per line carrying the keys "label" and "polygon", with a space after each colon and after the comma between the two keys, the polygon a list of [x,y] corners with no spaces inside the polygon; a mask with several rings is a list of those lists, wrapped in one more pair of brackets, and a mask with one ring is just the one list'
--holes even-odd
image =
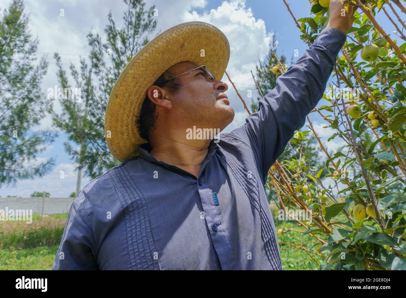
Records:
{"label": "man's raised hand grasping at apples on the tree", "polygon": [[[365,2],[361,0],[361,2]],[[326,28],[336,28],[342,32],[346,32],[351,28],[354,22],[354,12],[356,7],[350,5],[348,6],[348,12],[345,11],[344,5],[341,0],[330,0],[330,19]]]}

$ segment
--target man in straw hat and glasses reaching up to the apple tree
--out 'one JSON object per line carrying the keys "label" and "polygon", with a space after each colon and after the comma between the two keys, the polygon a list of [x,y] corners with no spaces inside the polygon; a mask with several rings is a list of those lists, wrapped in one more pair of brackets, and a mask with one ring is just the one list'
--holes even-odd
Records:
{"label": "man in straw hat and glasses reaching up to the apple tree", "polygon": [[221,131],[234,117],[219,81],[224,34],[188,22],[143,47],[106,109],[106,141],[123,163],[80,191],[52,269],[281,270],[264,184],[322,97],[352,24],[352,7],[341,9],[331,0],[313,45],[243,126],[216,138],[196,132]]}

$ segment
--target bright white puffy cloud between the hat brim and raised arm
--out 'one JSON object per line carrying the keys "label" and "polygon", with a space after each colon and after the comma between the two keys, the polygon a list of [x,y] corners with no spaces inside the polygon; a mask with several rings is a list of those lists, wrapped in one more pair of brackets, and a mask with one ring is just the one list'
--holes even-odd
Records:
{"label": "bright white puffy cloud between the hat brim and raised arm", "polygon": [[[201,15],[196,11],[188,12],[182,21],[204,21],[216,26],[227,36],[230,43],[227,73],[246,101],[246,105],[251,105],[251,98],[247,96],[248,90],[251,90],[254,98],[258,95],[251,71],[255,73],[255,63],[258,59],[262,61],[268,54],[272,38],[272,34],[266,32],[265,22],[262,19],[255,19],[255,11],[251,12],[244,0],[224,1],[216,9]],[[229,85],[227,95],[236,115],[238,111],[244,111],[245,117],[248,116],[227,76],[224,75],[222,79]],[[237,120],[241,119],[235,117],[234,121]],[[240,126],[234,122],[230,125]]]}

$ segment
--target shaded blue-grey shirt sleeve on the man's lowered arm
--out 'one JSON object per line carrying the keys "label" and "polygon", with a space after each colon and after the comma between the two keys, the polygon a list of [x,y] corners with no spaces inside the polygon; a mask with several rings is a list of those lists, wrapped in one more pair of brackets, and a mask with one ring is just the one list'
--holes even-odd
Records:
{"label": "shaded blue-grey shirt sleeve on the man's lowered arm", "polygon": [[83,190],[73,201],[52,270],[98,270]]}

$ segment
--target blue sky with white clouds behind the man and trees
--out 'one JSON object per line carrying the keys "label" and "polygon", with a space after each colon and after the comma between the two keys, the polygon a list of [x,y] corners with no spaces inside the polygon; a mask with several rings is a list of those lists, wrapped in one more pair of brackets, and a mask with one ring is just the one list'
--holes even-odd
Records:
{"label": "blue sky with white clouds behind the man and trees", "polygon": [[[9,6],[11,0],[3,0],[0,8]],[[162,31],[184,21],[202,20],[207,21],[222,30],[230,41],[231,59],[227,68],[233,81],[240,90],[240,93],[252,90],[253,97],[257,97],[257,91],[251,78],[250,70],[255,71],[255,63],[258,58],[265,58],[268,54],[268,41],[271,32],[274,32],[275,39],[279,42],[277,52],[284,54],[290,64],[294,50],[299,51],[301,56],[307,45],[300,40],[300,32],[282,0],[147,0],[147,6],[155,4],[158,8],[158,29]],[[56,65],[52,54],[58,51],[68,69],[69,61],[78,63],[79,56],[86,56],[89,47],[86,43],[86,34],[100,32],[103,35],[107,23],[107,13],[111,9],[113,17],[120,23],[122,12],[125,6],[120,1],[26,1],[26,12],[30,13],[30,27],[32,34],[39,37],[39,54],[48,53],[50,66],[48,73],[43,79],[43,90],[47,90],[58,84],[56,81]],[[307,0],[290,0],[290,8],[297,19],[310,16],[310,6]],[[246,11],[251,8],[252,16],[247,17]],[[59,15],[60,9],[65,9],[65,17]],[[387,32],[395,30],[393,25],[379,13],[377,20]],[[154,34],[155,35],[155,34]],[[393,34],[394,36],[394,34]],[[392,37],[393,37],[392,36]],[[395,38],[395,37],[393,37]],[[401,44],[401,43],[400,43]],[[46,55],[46,54],[45,54]],[[294,58],[297,60],[298,58]],[[226,80],[227,77],[223,77]],[[231,105],[236,111],[235,120],[225,132],[243,124],[246,117],[242,104],[236,96],[231,84],[227,92]],[[248,101],[250,102],[250,101]],[[319,105],[322,105],[321,101]],[[58,109],[58,104],[55,104]],[[324,122],[320,116],[311,114],[316,131],[324,140],[331,135],[328,129],[322,129]],[[50,117],[45,117],[38,128],[50,127]],[[47,147],[47,150],[38,155],[39,160],[48,157],[56,158],[56,165],[52,172],[43,178],[33,180],[20,180],[17,184],[0,188],[0,196],[18,195],[29,196],[33,191],[48,191],[51,197],[67,197],[76,189],[75,165],[65,153],[63,142],[67,140],[64,133]],[[339,140],[336,143],[329,142],[330,148],[340,146]],[[65,172],[65,178],[60,178],[60,171]],[[82,178],[84,187],[91,179]]]}

